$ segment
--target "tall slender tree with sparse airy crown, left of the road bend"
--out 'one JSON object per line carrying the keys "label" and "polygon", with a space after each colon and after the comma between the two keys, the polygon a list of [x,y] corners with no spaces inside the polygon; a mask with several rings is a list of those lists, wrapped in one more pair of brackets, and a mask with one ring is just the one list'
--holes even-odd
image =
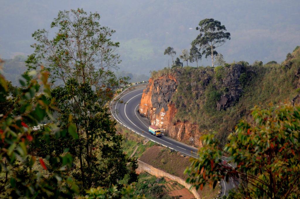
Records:
{"label": "tall slender tree with sparse airy crown, left of the road bend", "polygon": [[45,64],[52,81],[61,82],[51,92],[59,108],[59,126],[73,118],[79,137],[76,142],[53,139],[53,144],[67,146],[78,160],[71,175],[82,182],[82,192],[91,186],[117,184],[130,172],[127,162],[131,162],[122,152],[122,136],[116,134],[107,107],[127,80],[117,79],[112,71],[120,63],[119,43],[110,38],[115,31],[101,26],[99,19],[98,13],[82,9],[59,11],[51,23],[58,30],[55,37],[49,39],[44,29],[35,31],[35,51],[26,61],[29,69]]}

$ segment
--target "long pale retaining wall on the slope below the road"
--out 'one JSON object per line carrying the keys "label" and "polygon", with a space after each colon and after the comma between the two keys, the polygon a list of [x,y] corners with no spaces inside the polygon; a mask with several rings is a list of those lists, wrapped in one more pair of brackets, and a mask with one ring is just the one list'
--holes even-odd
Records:
{"label": "long pale retaining wall on the slope below the road", "polygon": [[[162,170],[159,170],[158,168],[152,167],[151,165],[148,165],[145,162],[142,162],[140,160],[137,160],[137,163],[139,165],[139,167],[136,169],[137,173],[146,171],[147,173],[149,173],[153,176],[156,176],[156,177],[167,177],[167,178],[170,178],[171,180],[176,181],[177,183],[183,185],[188,190],[190,190],[191,185],[186,183],[185,180],[181,179],[180,177],[168,174],[167,172],[164,172]],[[197,193],[195,188],[190,190],[190,192],[193,193],[195,198],[200,199],[200,196]]]}

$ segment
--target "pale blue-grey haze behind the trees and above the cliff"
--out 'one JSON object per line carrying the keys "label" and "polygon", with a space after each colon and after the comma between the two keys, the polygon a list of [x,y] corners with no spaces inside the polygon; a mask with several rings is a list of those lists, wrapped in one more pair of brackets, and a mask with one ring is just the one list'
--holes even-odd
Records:
{"label": "pale blue-grey haze behind the trees and above the cliff", "polygon": [[[299,0],[0,0],[0,57],[30,54],[35,30],[49,29],[59,10],[78,7],[97,11],[101,24],[116,30],[113,39],[121,43],[121,70],[135,73],[166,67],[170,58],[163,53],[168,46],[174,47],[176,56],[189,49],[198,34],[195,27],[205,18],[219,20],[231,33],[231,40],[217,48],[228,63],[281,62],[300,45]],[[210,61],[204,58],[201,64]]]}

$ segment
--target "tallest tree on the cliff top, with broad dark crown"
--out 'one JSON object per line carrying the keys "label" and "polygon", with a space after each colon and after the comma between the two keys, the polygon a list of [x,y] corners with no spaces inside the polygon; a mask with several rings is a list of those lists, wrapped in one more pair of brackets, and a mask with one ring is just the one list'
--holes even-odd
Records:
{"label": "tallest tree on the cliff top, with broad dark crown", "polygon": [[222,46],[226,40],[230,40],[230,33],[225,32],[225,26],[214,19],[203,19],[199,22],[199,26],[196,30],[199,30],[200,34],[193,40],[192,46],[199,46],[205,58],[210,56],[211,66],[214,67],[214,57],[218,54],[214,49]]}

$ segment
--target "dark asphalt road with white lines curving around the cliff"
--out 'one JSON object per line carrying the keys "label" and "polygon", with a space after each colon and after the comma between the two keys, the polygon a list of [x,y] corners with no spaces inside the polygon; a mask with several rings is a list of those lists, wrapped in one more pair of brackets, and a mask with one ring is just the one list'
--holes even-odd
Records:
{"label": "dark asphalt road with white lines curving around the cliff", "polygon": [[[183,153],[187,156],[196,158],[198,149],[191,147],[187,144],[183,144],[179,141],[168,138],[167,136],[155,137],[148,132],[148,126],[150,125],[149,120],[140,116],[138,114],[139,104],[141,102],[141,97],[143,94],[143,89],[146,88],[132,88],[131,90],[124,90],[119,96],[119,99],[116,103],[110,103],[110,110],[113,117],[123,126],[127,127],[131,131],[150,139],[158,144],[161,144],[164,147],[168,147],[172,150],[176,150],[180,153]],[[117,98],[116,97],[116,98]],[[116,99],[115,98],[115,99]],[[123,101],[123,103],[119,103]],[[221,185],[221,194],[228,195],[229,190],[235,187],[235,182],[233,179],[228,182],[222,180]]]}

